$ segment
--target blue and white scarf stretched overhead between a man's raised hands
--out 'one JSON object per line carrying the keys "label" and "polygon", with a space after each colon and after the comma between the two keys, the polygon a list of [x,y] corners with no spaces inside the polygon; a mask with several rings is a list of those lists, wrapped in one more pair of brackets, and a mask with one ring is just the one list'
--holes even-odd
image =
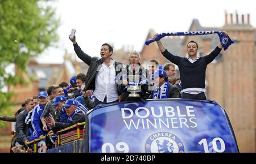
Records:
{"label": "blue and white scarf stretched overhead between a man's raised hands", "polygon": [[151,42],[159,41],[165,36],[191,36],[191,35],[204,35],[204,34],[214,34],[217,33],[220,37],[220,42],[224,50],[228,49],[230,45],[234,43],[229,36],[226,36],[222,31],[188,31],[188,32],[171,32],[171,33],[161,33],[157,37],[152,37],[150,40],[145,42],[146,45],[151,44]]}

